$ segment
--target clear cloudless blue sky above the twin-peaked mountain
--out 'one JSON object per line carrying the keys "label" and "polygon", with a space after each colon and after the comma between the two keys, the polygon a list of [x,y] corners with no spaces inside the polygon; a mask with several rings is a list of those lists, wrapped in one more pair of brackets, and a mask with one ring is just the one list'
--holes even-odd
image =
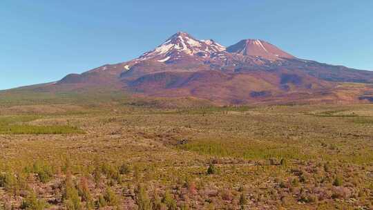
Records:
{"label": "clear cloudless blue sky above the twin-peaked mountain", "polygon": [[372,10],[371,0],[1,0],[0,89],[133,59],[179,30],[373,70]]}

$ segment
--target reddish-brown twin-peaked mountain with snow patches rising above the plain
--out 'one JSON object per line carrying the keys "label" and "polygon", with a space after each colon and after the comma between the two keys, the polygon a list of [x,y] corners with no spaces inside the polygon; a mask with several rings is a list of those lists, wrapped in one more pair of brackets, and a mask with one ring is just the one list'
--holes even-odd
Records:
{"label": "reddish-brown twin-peaked mountain with snow patches rising above the plain", "polygon": [[373,101],[373,72],[298,59],[259,39],[226,48],[178,32],[137,59],[30,88],[107,88],[219,104],[361,103]]}

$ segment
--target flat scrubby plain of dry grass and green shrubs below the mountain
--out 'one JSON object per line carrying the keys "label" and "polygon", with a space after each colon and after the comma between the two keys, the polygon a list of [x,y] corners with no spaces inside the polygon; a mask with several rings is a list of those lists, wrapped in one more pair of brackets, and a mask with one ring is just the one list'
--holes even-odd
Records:
{"label": "flat scrubby plain of dry grass and green shrubs below the mountain", "polygon": [[0,209],[372,209],[373,105],[1,105]]}

